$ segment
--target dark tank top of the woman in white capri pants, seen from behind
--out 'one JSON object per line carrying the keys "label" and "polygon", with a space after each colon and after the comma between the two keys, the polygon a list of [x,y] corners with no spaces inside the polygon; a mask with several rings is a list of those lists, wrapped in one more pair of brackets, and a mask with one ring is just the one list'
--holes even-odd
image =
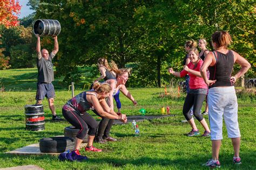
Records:
{"label": "dark tank top of the woman in white capri pants, seen from behind", "polygon": [[209,66],[208,70],[210,72],[209,80],[217,80],[212,87],[221,87],[221,86],[234,86],[230,81],[234,66],[234,54],[231,50],[227,54],[220,53],[218,51],[213,52],[216,63],[214,66]]}

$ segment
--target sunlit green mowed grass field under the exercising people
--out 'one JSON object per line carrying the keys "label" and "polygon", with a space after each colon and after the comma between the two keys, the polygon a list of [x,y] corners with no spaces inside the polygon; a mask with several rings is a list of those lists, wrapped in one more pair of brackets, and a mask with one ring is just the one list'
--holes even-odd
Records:
{"label": "sunlit green mowed grass field under the exercising people", "polygon": [[[118,138],[115,143],[94,144],[103,152],[93,153],[80,151],[89,157],[85,162],[61,162],[57,156],[51,155],[12,155],[5,152],[38,143],[39,139],[63,135],[68,122],[52,123],[50,110],[46,100],[43,101],[45,111],[45,130],[26,131],[24,105],[35,104],[36,68],[1,70],[0,91],[0,167],[21,165],[37,165],[44,169],[206,169],[201,164],[211,158],[211,140],[203,137],[187,137],[191,130],[187,123],[181,123],[185,95],[177,97],[177,89],[171,90],[169,96],[163,96],[164,88],[129,88],[138,105],[123,95],[122,112],[139,115],[139,109],[146,109],[146,115],[160,115],[160,108],[167,105],[171,114],[176,116],[139,122],[140,137],[134,137],[131,124],[113,125],[111,136]],[[34,76],[34,77],[32,77]],[[68,87],[62,86],[57,79],[55,106],[56,112],[62,117],[61,109],[71,98]],[[89,82],[91,80],[88,80]],[[84,83],[81,83],[84,84]],[[75,84],[76,87],[76,84]],[[75,95],[83,90],[76,88]],[[168,89],[169,90],[169,89]],[[255,169],[256,167],[256,102],[255,94],[238,95],[238,118],[241,131],[240,157],[242,164],[233,165],[233,148],[231,139],[227,138],[225,123],[223,124],[224,139],[220,149],[222,169]],[[204,104],[205,105],[205,104]],[[204,108],[202,109],[204,110]],[[93,113],[90,112],[92,116]],[[97,116],[94,116],[98,118]],[[208,117],[204,116],[207,123]],[[196,124],[203,134],[204,130]]]}

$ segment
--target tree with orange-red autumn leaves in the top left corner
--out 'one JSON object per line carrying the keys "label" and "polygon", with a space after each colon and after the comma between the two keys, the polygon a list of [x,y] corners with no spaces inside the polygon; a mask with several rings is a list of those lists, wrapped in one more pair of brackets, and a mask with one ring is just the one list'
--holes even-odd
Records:
{"label": "tree with orange-red autumn leaves in the top left corner", "polygon": [[[0,0],[0,25],[6,27],[18,25],[18,15],[21,5],[15,0]],[[16,13],[16,15],[15,15]]]}

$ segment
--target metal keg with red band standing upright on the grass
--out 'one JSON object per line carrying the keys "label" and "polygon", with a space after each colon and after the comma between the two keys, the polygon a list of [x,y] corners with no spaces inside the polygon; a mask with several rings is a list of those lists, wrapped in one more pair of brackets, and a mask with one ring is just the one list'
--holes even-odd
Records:
{"label": "metal keg with red band standing upright on the grass", "polygon": [[26,130],[44,130],[43,104],[25,105]]}

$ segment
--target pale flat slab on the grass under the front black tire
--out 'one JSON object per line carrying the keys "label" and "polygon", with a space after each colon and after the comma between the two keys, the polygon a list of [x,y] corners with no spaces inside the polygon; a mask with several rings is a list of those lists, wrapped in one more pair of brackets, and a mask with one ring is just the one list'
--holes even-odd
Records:
{"label": "pale flat slab on the grass under the front black tire", "polygon": [[[80,148],[84,148],[87,145],[87,143],[82,143]],[[44,155],[44,154],[49,154],[49,155],[59,155],[60,153],[43,153],[39,149],[39,143],[36,144],[31,144],[22,148],[18,148],[17,150],[14,151],[9,151],[5,153],[10,153],[10,154],[16,154],[16,155]]]}

